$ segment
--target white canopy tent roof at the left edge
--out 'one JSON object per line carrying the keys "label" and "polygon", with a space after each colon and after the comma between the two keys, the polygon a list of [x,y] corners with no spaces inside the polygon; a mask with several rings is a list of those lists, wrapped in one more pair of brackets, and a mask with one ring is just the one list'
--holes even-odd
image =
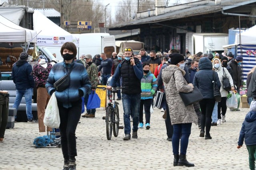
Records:
{"label": "white canopy tent roof at the left edge", "polygon": [[0,15],[0,42],[36,43],[36,31],[22,28]]}

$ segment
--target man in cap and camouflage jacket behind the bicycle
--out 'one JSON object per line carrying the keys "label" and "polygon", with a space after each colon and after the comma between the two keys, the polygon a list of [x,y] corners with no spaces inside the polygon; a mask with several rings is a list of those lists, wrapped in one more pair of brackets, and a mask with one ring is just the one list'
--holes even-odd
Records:
{"label": "man in cap and camouflage jacket behind the bicycle", "polygon": [[[92,84],[92,91],[96,90],[98,84],[98,67],[92,62],[92,55],[88,54],[85,57],[86,70]],[[84,98],[84,104],[87,106],[89,94],[86,94]],[[86,112],[82,117],[95,117],[96,109],[86,109]]]}

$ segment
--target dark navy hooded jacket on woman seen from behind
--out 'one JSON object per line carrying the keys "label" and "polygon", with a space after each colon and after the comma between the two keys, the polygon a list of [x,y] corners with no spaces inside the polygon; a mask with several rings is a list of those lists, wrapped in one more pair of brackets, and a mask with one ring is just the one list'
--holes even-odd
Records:
{"label": "dark navy hooded jacket on woman seen from behind", "polygon": [[212,70],[212,62],[207,57],[202,57],[198,64],[199,71],[194,76],[193,86],[198,87],[205,99],[212,99],[214,98],[212,88],[214,76],[219,89],[221,86],[218,73]]}

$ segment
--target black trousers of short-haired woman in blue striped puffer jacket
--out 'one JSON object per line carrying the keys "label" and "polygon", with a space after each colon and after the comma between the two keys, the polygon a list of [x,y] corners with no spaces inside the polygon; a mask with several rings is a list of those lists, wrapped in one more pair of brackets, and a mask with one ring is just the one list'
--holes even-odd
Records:
{"label": "black trousers of short-haired woman in blue striped puffer jacket", "polygon": [[76,152],[76,127],[81,117],[82,100],[72,102],[72,107],[63,107],[58,102],[60,113],[61,149],[64,159],[77,156]]}

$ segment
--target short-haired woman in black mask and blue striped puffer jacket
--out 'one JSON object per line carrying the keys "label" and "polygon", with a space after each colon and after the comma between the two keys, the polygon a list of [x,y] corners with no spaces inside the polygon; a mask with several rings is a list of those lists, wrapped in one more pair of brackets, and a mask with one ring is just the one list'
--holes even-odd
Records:
{"label": "short-haired woman in black mask and blue striped puffer jacket", "polygon": [[81,116],[82,96],[91,89],[89,76],[83,64],[74,62],[76,58],[76,45],[64,43],[60,49],[63,57],[62,63],[54,64],[48,79],[46,88],[50,95],[55,92],[54,82],[70,72],[70,84],[62,92],[55,92],[60,114],[61,149],[64,157],[63,170],[76,169],[76,127]]}

